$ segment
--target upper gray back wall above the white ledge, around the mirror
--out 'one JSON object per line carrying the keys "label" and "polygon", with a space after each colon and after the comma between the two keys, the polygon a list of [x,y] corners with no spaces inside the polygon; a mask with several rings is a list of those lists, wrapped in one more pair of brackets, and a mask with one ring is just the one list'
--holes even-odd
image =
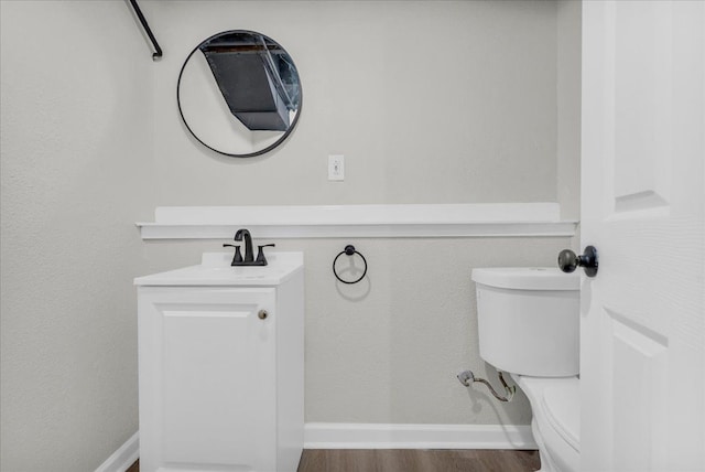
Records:
{"label": "upper gray back wall above the white ledge, around the mirror", "polygon": [[[154,69],[159,205],[556,201],[556,4],[545,1],[145,3],[169,45]],[[224,158],[175,101],[204,39],[251,29],[303,83],[292,139]],[[346,155],[345,182],[327,155]]]}

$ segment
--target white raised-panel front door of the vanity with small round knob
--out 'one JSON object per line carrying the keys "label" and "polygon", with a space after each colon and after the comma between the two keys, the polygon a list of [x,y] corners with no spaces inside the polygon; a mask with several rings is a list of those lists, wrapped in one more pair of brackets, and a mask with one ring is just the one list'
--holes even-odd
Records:
{"label": "white raised-panel front door of the vanity with small round knob", "polygon": [[140,289],[141,470],[275,470],[274,311],[273,288]]}

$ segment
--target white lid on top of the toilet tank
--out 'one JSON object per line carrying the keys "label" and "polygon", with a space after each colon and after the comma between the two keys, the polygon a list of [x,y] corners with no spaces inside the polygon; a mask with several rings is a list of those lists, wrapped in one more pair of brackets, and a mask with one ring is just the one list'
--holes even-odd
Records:
{"label": "white lid on top of the toilet tank", "polygon": [[557,267],[492,267],[473,269],[473,280],[484,286],[518,290],[579,290],[578,271]]}

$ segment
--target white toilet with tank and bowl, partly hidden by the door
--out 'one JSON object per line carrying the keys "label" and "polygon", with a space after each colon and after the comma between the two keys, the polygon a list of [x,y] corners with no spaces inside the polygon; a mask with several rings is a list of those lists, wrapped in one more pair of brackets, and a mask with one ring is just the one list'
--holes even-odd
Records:
{"label": "white toilet with tank and bowl, partly hidden by the door", "polygon": [[579,466],[579,275],[474,269],[480,356],[529,398],[542,472]]}

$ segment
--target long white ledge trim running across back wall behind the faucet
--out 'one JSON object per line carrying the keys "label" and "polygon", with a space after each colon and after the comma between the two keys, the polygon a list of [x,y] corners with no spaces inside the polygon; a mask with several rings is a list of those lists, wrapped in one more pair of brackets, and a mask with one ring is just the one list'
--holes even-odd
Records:
{"label": "long white ledge trim running across back wall behind the faucet", "polygon": [[160,206],[143,239],[221,239],[247,227],[265,238],[574,236],[557,203]]}

